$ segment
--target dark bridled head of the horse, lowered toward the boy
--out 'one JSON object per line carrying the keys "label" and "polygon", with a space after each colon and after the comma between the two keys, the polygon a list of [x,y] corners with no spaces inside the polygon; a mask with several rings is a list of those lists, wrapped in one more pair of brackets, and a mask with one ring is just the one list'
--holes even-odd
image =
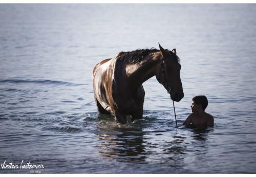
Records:
{"label": "dark bridled head of the horse, lowered toward the boy", "polygon": [[172,100],[180,101],[184,97],[184,93],[180,79],[181,65],[179,57],[176,55],[176,49],[164,50],[160,44],[159,48],[161,57],[156,78],[159,83],[163,84]]}

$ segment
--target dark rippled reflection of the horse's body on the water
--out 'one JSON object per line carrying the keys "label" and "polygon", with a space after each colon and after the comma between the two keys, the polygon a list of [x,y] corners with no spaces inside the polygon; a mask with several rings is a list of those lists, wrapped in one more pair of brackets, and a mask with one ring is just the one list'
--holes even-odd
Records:
{"label": "dark rippled reflection of the horse's body on the water", "polygon": [[113,131],[114,134],[113,132],[96,134],[102,141],[97,146],[102,156],[121,162],[145,162],[144,132],[141,128],[115,127]]}

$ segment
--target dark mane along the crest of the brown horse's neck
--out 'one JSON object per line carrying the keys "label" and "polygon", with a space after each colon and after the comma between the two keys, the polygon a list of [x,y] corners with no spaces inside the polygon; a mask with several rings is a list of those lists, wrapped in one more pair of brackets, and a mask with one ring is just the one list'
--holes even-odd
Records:
{"label": "dark mane along the crest of the brown horse's neck", "polygon": [[[169,51],[169,50],[167,50],[167,51],[169,53],[173,53],[172,51]],[[155,53],[155,52],[159,52],[159,50],[156,48],[137,49],[135,51],[130,51],[130,52],[119,52],[117,55],[117,58],[123,62],[137,64],[140,61],[144,60],[146,58],[145,56],[147,56],[150,53]],[[176,59],[177,59],[177,62],[180,62],[180,58],[178,56],[176,57]]]}

